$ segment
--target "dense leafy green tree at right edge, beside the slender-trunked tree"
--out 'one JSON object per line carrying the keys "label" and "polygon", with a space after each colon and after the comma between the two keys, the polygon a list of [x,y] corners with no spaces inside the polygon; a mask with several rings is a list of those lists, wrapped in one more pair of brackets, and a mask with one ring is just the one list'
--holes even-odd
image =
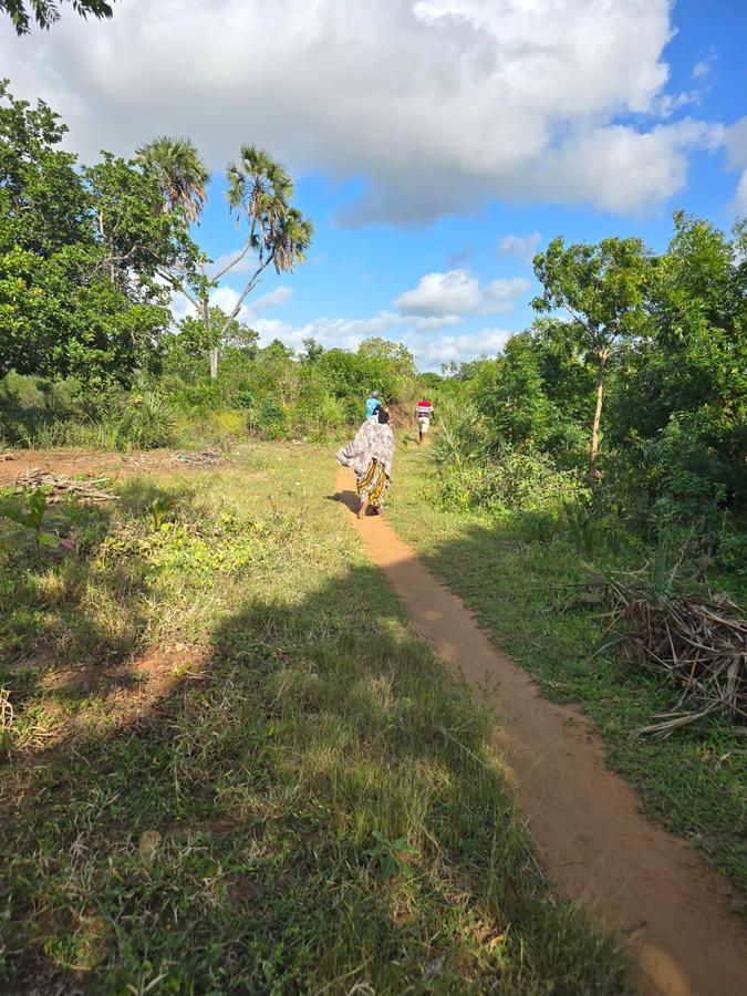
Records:
{"label": "dense leafy green tree at right edge, beside the slender-trunked tree", "polygon": [[707,495],[747,494],[747,245],[745,222],[732,239],[682,212],[674,226],[651,267],[651,321],[612,384],[611,442],[632,489],[696,517]]}

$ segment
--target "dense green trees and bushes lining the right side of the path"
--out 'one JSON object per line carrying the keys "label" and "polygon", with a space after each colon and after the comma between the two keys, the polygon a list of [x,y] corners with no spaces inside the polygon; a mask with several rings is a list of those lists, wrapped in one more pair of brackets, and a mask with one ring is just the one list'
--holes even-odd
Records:
{"label": "dense green trees and bushes lining the right side of the path", "polygon": [[674,222],[660,256],[556,239],[536,258],[536,308],[570,318],[539,319],[448,383],[447,506],[686,543],[691,567],[744,577],[747,230]]}

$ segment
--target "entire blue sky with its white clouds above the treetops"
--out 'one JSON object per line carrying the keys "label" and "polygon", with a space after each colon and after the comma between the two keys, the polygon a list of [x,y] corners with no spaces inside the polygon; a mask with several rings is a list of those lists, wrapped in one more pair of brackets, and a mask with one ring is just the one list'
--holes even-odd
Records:
{"label": "entire blue sky with its white clouds above the treetops", "polygon": [[293,346],[401,340],[438,369],[531,322],[554,235],[662,249],[675,207],[747,212],[746,39],[743,0],[122,0],[111,22],[2,24],[0,60],[84,158],[193,136],[214,258],[241,243],[222,166],[266,145],[315,236],[242,318]]}

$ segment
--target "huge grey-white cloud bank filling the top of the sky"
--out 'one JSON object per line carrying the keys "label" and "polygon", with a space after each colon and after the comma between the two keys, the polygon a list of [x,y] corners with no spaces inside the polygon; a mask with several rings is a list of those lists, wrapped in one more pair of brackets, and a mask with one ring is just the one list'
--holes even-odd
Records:
{"label": "huge grey-white cloud bank filling the top of the sky", "polygon": [[672,7],[128,0],[111,21],[69,17],[23,39],[3,19],[0,63],[86,156],[189,134],[220,168],[255,142],[295,172],[362,178],[347,224],[421,224],[515,196],[626,211],[677,193],[708,141],[677,123],[615,126],[655,110]]}

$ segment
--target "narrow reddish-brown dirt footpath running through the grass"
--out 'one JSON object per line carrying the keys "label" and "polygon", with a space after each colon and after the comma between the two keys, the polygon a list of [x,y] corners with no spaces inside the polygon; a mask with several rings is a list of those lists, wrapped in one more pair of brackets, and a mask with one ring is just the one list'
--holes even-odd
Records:
{"label": "narrow reddish-brown dirt footpath running through the grass", "polygon": [[[350,470],[338,492],[356,507]],[[635,792],[604,765],[600,739],[575,709],[542,698],[456,595],[385,521],[354,519],[369,553],[439,656],[496,704],[544,870],[635,946],[644,993],[747,992],[747,930],[730,916],[724,882],[676,837],[640,812]]]}

